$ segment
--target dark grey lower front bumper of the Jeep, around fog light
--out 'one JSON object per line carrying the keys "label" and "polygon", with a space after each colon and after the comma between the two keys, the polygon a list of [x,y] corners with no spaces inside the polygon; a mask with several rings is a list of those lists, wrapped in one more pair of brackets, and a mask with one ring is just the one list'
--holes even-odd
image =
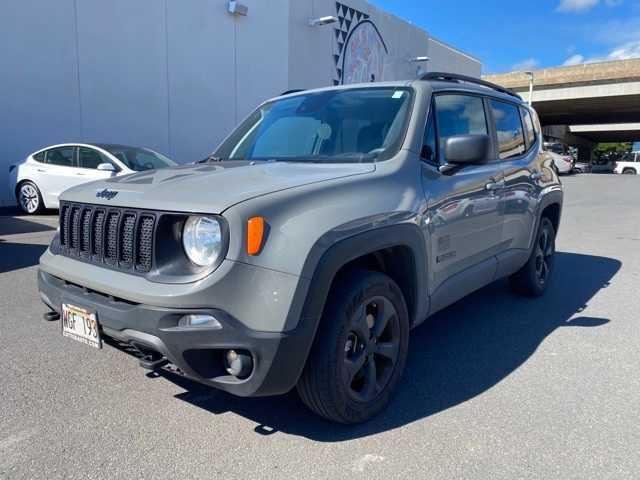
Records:
{"label": "dark grey lower front bumper of the Jeep, around fog light", "polygon": [[[40,296],[61,313],[68,303],[96,312],[101,332],[137,349],[166,358],[179,372],[238,396],[279,395],[291,390],[306,362],[317,322],[300,319],[293,330],[263,332],[247,328],[229,313],[215,308],[166,308],[118,299],[75,285],[40,270]],[[214,316],[222,329],[180,327],[183,315]],[[223,355],[228,349],[251,352],[249,378],[228,375]]]}

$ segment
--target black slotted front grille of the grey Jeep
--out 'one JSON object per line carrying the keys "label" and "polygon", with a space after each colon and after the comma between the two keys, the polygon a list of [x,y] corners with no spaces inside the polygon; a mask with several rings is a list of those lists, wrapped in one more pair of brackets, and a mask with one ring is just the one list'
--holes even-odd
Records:
{"label": "black slotted front grille of the grey Jeep", "polygon": [[156,224],[153,212],[62,203],[60,253],[146,273],[153,266]]}

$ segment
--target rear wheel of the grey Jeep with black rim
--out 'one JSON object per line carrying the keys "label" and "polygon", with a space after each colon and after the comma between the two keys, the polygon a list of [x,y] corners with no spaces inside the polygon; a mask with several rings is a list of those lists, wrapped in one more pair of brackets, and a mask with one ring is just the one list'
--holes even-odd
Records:
{"label": "rear wheel of the grey Jeep with black rim", "polygon": [[509,277],[514,292],[526,297],[540,297],[549,286],[556,253],[556,231],[551,220],[542,217],[529,260]]}

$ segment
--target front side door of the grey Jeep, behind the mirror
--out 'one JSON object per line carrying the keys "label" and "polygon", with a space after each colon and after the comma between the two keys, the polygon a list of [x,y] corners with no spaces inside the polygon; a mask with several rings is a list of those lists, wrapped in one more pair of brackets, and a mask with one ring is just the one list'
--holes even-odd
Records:
{"label": "front side door of the grey Jeep, behind the mirror", "polygon": [[[482,96],[434,95],[422,151],[427,197],[431,311],[490,283],[502,238],[502,165],[490,154],[484,164],[441,173],[446,140],[454,135],[491,135]],[[493,148],[492,142],[492,151]]]}

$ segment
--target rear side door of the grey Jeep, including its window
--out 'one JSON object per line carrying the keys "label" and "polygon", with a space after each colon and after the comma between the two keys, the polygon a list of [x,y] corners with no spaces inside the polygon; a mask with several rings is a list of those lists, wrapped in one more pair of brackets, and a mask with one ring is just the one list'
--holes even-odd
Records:
{"label": "rear side door of the grey Jeep, including its window", "polygon": [[[490,99],[489,106],[505,175],[502,251],[498,255],[498,275],[504,276],[514,273],[529,256],[545,167],[531,111],[498,99]],[[551,171],[546,178],[552,178]]]}

